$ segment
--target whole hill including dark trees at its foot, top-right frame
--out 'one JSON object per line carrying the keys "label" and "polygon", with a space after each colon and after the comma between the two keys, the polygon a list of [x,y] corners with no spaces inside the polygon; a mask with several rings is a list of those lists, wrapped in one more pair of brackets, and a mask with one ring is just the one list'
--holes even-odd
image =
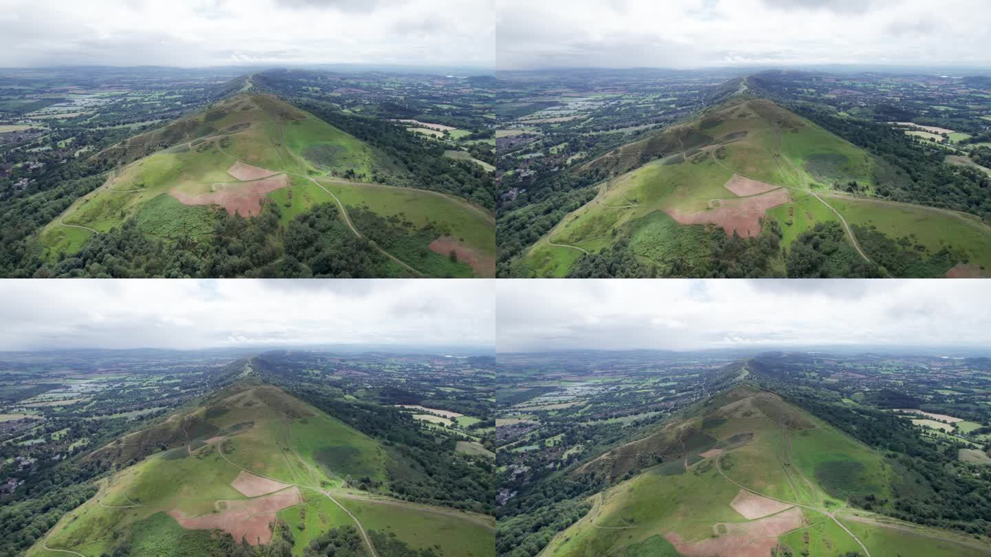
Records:
{"label": "whole hill including dark trees at its foot, top-right frame", "polygon": [[991,227],[876,197],[896,170],[759,91],[734,80],[697,118],[574,170],[598,181],[595,198],[530,247],[517,274],[942,277],[991,266]]}

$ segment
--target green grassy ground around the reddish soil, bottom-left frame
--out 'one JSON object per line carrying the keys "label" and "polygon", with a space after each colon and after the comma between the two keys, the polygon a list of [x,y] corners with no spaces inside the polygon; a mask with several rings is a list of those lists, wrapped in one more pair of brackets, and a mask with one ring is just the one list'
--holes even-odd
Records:
{"label": "green grassy ground around the reddish soil, bottom-left frame", "polygon": [[[148,444],[169,448],[126,466],[134,451]],[[236,384],[212,395],[207,405],[128,435],[86,458],[119,463],[122,469],[101,480],[96,498],[66,514],[44,542],[87,556],[109,553],[125,538],[155,554],[177,551],[166,547],[167,539],[205,547],[211,539],[209,530],[182,527],[168,513],[208,517],[232,504],[249,504],[252,498],[232,486],[243,470],[298,486],[283,486],[276,492],[298,489],[303,498],[303,504],[289,503],[278,510],[290,525],[303,525],[293,530],[293,553],[300,555],[303,544],[328,527],[354,524],[320,490],[332,490],[342,501],[366,497],[340,491],[342,480],[385,481],[386,467],[394,466],[379,441],[281,390],[252,383]],[[453,509],[385,498],[346,505],[366,529],[394,531],[414,547],[440,545],[449,551],[446,554],[466,554],[459,552],[468,547],[467,540],[492,538],[484,518]],[[308,512],[300,512],[302,507]],[[428,528],[426,521],[437,524]],[[29,554],[45,554],[41,545]]]}

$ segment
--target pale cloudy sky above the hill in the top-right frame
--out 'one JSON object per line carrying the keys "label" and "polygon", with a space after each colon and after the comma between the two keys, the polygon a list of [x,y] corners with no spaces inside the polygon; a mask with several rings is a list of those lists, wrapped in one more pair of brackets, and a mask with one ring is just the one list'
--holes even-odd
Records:
{"label": "pale cloudy sky above the hill in the top-right frame", "polygon": [[498,65],[991,65],[987,0],[497,0]]}

